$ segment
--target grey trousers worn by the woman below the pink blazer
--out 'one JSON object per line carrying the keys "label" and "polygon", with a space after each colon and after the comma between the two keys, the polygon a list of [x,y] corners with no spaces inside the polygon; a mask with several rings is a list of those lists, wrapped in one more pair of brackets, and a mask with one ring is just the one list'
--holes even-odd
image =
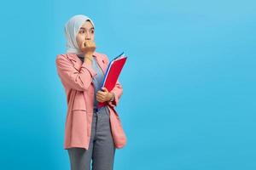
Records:
{"label": "grey trousers worn by the woman below the pink blazer", "polygon": [[70,148],[67,151],[71,170],[90,170],[90,164],[92,170],[113,170],[115,147],[107,106],[93,113],[88,150]]}

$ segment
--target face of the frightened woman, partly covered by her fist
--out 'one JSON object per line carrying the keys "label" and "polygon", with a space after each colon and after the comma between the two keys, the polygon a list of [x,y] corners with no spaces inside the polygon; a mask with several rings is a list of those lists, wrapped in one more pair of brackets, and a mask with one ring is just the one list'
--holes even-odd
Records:
{"label": "face of the frightened woman, partly covered by her fist", "polygon": [[89,20],[87,20],[84,25],[80,27],[76,39],[80,49],[82,49],[85,40],[94,42],[94,27]]}

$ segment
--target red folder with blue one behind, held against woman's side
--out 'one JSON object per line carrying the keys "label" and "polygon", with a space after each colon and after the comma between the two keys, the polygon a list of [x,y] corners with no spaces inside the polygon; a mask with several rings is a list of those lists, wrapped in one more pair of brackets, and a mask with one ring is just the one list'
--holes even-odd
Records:
{"label": "red folder with blue one behind, held against woman's side", "polygon": [[[127,56],[125,56],[123,52],[122,54],[119,54],[119,56],[112,59],[111,62],[108,64],[108,69],[102,82],[102,87],[107,88],[108,92],[110,92],[114,88],[118,80],[119,74],[125,65],[126,59]],[[98,108],[101,108],[104,105],[108,105],[107,102],[98,102]]]}

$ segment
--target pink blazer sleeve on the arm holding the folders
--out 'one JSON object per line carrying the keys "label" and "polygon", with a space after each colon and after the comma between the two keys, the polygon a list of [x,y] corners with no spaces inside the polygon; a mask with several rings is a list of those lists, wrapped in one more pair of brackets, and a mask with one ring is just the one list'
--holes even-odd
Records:
{"label": "pink blazer sleeve on the arm holding the folders", "polygon": [[[107,65],[108,65],[108,63],[109,63],[108,56],[104,55],[104,58],[105,58],[105,60],[107,62]],[[113,101],[110,101],[110,100],[108,101],[108,105],[110,105],[112,107],[115,107],[115,106],[118,105],[119,99],[121,98],[121,95],[123,94],[123,87],[122,87],[121,83],[119,82],[119,79],[115,83],[115,86],[110,91],[110,93],[114,93],[115,97],[114,97]]]}

